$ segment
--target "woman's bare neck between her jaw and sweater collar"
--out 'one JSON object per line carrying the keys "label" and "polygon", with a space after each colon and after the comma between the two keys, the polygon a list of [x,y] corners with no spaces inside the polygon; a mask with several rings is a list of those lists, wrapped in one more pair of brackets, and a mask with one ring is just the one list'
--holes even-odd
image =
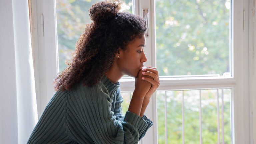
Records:
{"label": "woman's bare neck between her jaw and sweater collar", "polygon": [[117,83],[124,76],[124,74],[121,73],[115,62],[105,73],[105,75],[112,83]]}

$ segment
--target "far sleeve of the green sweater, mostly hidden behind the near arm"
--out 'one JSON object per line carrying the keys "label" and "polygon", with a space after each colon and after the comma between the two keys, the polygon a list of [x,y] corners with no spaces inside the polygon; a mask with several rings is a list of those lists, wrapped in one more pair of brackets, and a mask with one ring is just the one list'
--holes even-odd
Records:
{"label": "far sleeve of the green sweater, mostly hidden behind the near arm", "polygon": [[[123,114],[122,114],[122,107],[121,107],[121,103],[123,102],[123,98],[120,94],[120,88],[118,88],[117,90],[117,97],[116,97],[116,103],[115,103],[115,109],[114,109],[114,115],[116,116],[116,119],[118,121],[123,119]],[[142,135],[139,138],[139,141],[141,138],[143,138],[147,132],[147,130],[154,124],[150,119],[148,119],[145,115],[143,115],[142,119],[144,119],[148,126],[145,129],[145,131],[142,133]]]}

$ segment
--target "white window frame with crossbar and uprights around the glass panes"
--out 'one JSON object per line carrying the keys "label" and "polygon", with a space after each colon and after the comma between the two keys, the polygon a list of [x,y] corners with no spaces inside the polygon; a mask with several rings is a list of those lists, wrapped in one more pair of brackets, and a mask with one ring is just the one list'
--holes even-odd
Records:
{"label": "white window frame with crossbar and uprights around the glass panes", "polygon": [[[256,38],[253,22],[254,0],[231,0],[232,2],[232,42],[231,78],[225,77],[183,77],[160,78],[158,90],[188,89],[232,89],[232,142],[233,144],[256,143],[256,60],[254,50]],[[55,0],[31,0],[31,32],[36,83],[38,117],[55,93],[53,81],[58,72],[57,22]],[[156,66],[155,50],[155,1],[133,0],[134,12],[142,16],[142,9],[149,9],[149,37],[146,38],[145,66]],[[250,8],[250,9],[249,9]],[[249,11],[250,10],[250,11]],[[43,16],[43,17],[42,17]],[[120,80],[122,91],[133,91],[134,81]],[[151,97],[145,115],[154,125],[143,138],[145,144],[157,144],[156,95]]]}

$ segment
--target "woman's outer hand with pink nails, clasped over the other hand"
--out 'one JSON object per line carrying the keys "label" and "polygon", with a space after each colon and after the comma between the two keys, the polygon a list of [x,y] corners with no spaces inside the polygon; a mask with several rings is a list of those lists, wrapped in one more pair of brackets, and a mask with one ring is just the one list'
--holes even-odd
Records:
{"label": "woman's outer hand with pink nails, clasped over the other hand", "polygon": [[158,71],[155,67],[147,67],[146,69],[143,69],[144,70],[144,74],[143,75],[148,75],[150,77],[152,77],[153,79],[151,78],[144,78],[143,80],[145,81],[148,81],[152,84],[151,88],[149,89],[149,91],[147,92],[147,94],[145,95],[144,99],[150,99],[150,97],[152,96],[152,94],[156,91],[156,89],[159,87],[160,85],[160,80],[159,80],[159,75],[158,75]]}

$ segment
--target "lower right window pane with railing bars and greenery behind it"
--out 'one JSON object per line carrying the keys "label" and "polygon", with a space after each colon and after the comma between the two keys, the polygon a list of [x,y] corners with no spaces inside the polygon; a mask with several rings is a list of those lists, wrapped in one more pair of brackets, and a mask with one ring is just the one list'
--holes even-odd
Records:
{"label": "lower right window pane with railing bars and greenery behind it", "polygon": [[182,126],[184,143],[198,144],[200,125],[202,143],[218,143],[219,135],[220,143],[231,144],[231,89],[157,91],[158,144],[182,144]]}

